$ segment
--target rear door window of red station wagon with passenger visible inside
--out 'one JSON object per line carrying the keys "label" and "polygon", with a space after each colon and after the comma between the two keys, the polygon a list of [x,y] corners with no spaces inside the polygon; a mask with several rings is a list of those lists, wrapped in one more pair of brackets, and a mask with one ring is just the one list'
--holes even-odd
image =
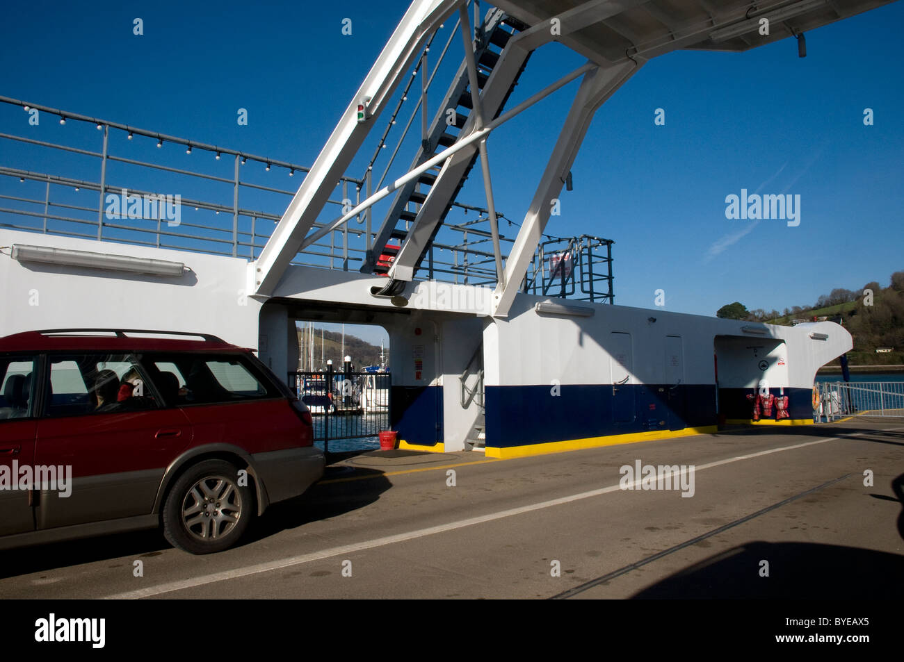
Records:
{"label": "rear door window of red station wagon with passenger visible inside", "polygon": [[47,415],[111,414],[155,409],[146,375],[129,354],[51,355]]}

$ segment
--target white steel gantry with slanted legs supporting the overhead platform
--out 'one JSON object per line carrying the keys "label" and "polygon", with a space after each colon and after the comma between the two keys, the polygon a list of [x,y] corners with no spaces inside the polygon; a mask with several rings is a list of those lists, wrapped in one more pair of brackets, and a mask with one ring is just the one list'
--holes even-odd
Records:
{"label": "white steel gantry with slanted legs supporting the overhead platform", "polygon": [[[443,223],[448,206],[471,166],[479,157],[494,245],[496,284],[491,306],[494,317],[504,317],[517,294],[546,223],[550,201],[559,195],[570,172],[590,121],[599,107],[640,67],[654,57],[679,49],[746,51],[769,42],[796,36],[807,30],[859,14],[890,0],[494,0],[495,8],[472,32],[466,0],[415,0],[392,34],[340,123],[334,129],[311,171],[289,204],[259,258],[250,264],[250,292],[267,297],[299,250],[340,228],[379,200],[396,193],[392,214],[378,234],[372,255],[363,270],[385,273],[385,286],[374,294],[400,294],[409,284]],[[447,106],[456,107],[457,136],[441,128],[425,136],[421,151],[409,171],[369,194],[353,210],[312,232],[335,182],[344,174],[371,130],[373,121],[359,122],[359,105],[368,117],[379,117],[401,80],[410,75],[429,36],[454,14],[465,45],[465,59],[457,83],[449,89]],[[500,33],[502,23],[511,32]],[[763,33],[764,23],[769,25]],[[472,39],[474,34],[478,38]],[[502,47],[487,51],[487,43]],[[530,98],[503,112],[532,51],[560,42],[587,58],[578,70],[552,82]],[[805,50],[802,50],[803,53]],[[490,70],[487,76],[478,70]],[[533,195],[523,225],[508,256],[500,248],[496,223],[490,160],[486,139],[494,128],[546,98],[571,80],[581,78],[559,139]],[[457,109],[464,107],[465,115]],[[443,121],[443,111],[434,121]],[[425,111],[426,112],[426,111]],[[426,130],[426,115],[424,127]],[[438,169],[438,171],[437,171]],[[429,191],[415,192],[423,184]],[[370,193],[370,191],[368,191]],[[417,213],[403,211],[408,202]],[[407,214],[407,215],[406,215]],[[405,228],[396,227],[404,219]],[[388,242],[399,240],[399,247]],[[391,266],[381,272],[376,256],[394,254]]]}

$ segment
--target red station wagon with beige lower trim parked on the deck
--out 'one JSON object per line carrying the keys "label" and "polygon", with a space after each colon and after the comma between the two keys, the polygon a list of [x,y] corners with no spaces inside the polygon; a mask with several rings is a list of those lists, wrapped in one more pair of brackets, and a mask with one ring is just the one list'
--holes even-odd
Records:
{"label": "red station wagon with beige lower trim parked on the deck", "polygon": [[311,414],[251,350],[204,334],[0,338],[0,549],[157,527],[233,545],[323,475]]}

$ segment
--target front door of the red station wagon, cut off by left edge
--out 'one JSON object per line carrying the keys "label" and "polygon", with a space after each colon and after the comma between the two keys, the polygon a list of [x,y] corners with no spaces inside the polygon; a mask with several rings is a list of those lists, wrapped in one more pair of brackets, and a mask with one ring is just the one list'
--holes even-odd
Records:
{"label": "front door of the red station wagon, cut off by left edge", "polygon": [[34,528],[32,486],[20,478],[33,474],[37,368],[35,356],[0,357],[0,536]]}

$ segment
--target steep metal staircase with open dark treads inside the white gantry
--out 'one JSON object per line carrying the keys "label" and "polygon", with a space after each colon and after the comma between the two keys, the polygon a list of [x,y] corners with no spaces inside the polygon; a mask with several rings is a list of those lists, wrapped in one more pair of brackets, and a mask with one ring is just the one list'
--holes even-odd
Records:
{"label": "steep metal staircase with open dark treads inside the white gantry", "polygon": [[[502,86],[502,89],[505,90],[501,97],[496,95],[494,99],[486,94],[487,83],[506,44],[516,33],[526,28],[527,25],[507,16],[501,10],[491,9],[485,15],[484,23],[476,30],[477,38],[474,46],[477,62],[477,86],[482,93],[481,103],[484,104],[485,117],[498,117],[524,70],[527,58],[512,73],[502,77],[497,76],[497,79],[494,79],[493,86]],[[459,136],[470,133],[474,126],[471,118],[473,107],[466,61],[463,61],[446,93],[443,104],[429,126],[426,137],[421,141],[418,154],[411,163],[410,170],[428,161],[438,151],[454,145]],[[454,114],[450,112],[453,109]],[[414,266],[414,270],[417,272],[430,243],[436,237],[438,229],[451,209],[452,202],[466,182],[476,158],[475,151],[463,163],[457,163],[457,167],[449,168],[448,163],[437,165],[400,188],[392,201],[380,231],[374,238],[372,250],[363,260],[362,273],[386,275],[401,247],[410,238],[410,229],[423,219],[424,210],[428,210],[433,218],[427,219],[430,221],[427,240],[421,239],[419,242],[422,246]],[[430,206],[426,207],[428,197],[431,197]]]}

